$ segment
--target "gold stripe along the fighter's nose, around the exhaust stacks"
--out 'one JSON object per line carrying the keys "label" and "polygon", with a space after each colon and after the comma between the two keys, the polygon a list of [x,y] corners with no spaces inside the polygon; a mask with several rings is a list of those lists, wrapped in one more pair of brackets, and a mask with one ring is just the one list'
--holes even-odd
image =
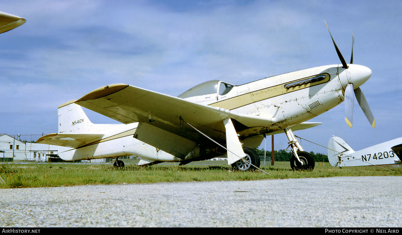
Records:
{"label": "gold stripe along the fighter's nose, around the exhaust stacks", "polygon": [[[285,88],[286,84],[295,83],[297,81],[306,80],[306,79],[313,78],[313,77],[316,77],[319,75],[325,75],[325,78],[321,81],[307,83],[307,84],[299,85],[297,87],[291,87],[289,89]],[[242,107],[242,106],[245,106],[245,105],[248,105],[251,103],[255,103],[255,102],[258,102],[258,101],[261,101],[264,99],[269,99],[269,98],[272,98],[272,97],[275,97],[278,95],[283,95],[286,93],[298,91],[298,90],[312,87],[315,85],[320,85],[322,83],[328,82],[329,80],[330,80],[330,75],[328,73],[318,74],[318,75],[314,75],[314,76],[310,76],[310,77],[305,77],[302,79],[297,79],[294,81],[289,81],[289,82],[275,85],[272,87],[267,87],[267,88],[260,89],[257,91],[252,91],[252,92],[249,92],[249,93],[246,93],[243,95],[238,95],[238,96],[235,96],[232,98],[224,99],[222,101],[211,103],[209,106],[220,107],[220,108],[232,110],[232,109],[236,109],[238,107]]]}

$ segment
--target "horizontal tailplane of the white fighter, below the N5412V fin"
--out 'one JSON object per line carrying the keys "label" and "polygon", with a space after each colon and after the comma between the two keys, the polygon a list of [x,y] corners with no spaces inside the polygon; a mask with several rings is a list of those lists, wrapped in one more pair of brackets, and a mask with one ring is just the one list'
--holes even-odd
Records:
{"label": "horizontal tailplane of the white fighter, below the N5412V fin", "polygon": [[36,142],[70,148],[78,148],[102,139],[103,134],[61,134],[53,133],[42,136]]}

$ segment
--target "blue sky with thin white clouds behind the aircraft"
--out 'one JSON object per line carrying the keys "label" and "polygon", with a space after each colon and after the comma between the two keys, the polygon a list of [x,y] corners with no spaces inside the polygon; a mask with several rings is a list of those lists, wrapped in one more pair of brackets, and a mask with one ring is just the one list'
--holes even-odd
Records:
{"label": "blue sky with thin white clouds behind the aircraft", "polygon": [[[373,72],[361,89],[377,126],[355,102],[349,128],[342,103],[310,120],[324,124],[295,134],[323,146],[339,136],[355,150],[401,136],[400,1],[4,0],[0,6],[27,20],[0,35],[0,133],[30,141],[57,132],[58,105],[108,84],[177,96],[209,80],[240,85],[340,63],[325,19],[346,61],[353,32],[353,62]],[[117,123],[86,111],[94,123]],[[287,142],[285,134],[275,135],[276,149]]]}

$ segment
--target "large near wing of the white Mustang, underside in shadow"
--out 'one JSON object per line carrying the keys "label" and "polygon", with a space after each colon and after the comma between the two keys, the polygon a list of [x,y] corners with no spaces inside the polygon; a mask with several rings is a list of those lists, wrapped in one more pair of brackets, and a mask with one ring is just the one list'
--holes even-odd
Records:
{"label": "large near wing of the white Mustang, underside in shadow", "polygon": [[75,103],[125,124],[148,123],[194,142],[207,139],[185,125],[182,120],[224,143],[226,128],[223,121],[228,118],[236,120],[235,128],[241,126],[242,130],[273,123],[258,116],[232,113],[219,107],[201,105],[126,84],[100,87]]}

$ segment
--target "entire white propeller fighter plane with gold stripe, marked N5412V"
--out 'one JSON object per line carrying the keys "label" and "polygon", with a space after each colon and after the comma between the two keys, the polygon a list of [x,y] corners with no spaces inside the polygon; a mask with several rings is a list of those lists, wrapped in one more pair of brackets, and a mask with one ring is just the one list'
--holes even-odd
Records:
{"label": "entire white propeller fighter plane with gold stripe, marked N5412V", "polygon": [[[332,41],[339,65],[243,85],[207,81],[178,97],[127,84],[100,87],[59,106],[59,132],[37,142],[68,147],[59,151],[64,160],[135,155],[142,158],[140,165],[187,164],[227,154],[229,165],[248,170],[260,166],[252,148],[260,146],[266,135],[285,132],[293,152],[291,168],[313,169],[314,159],[304,152],[292,130],[321,124],[306,121],[343,101],[345,120],[351,127],[355,95],[371,126],[375,126],[359,88],[371,70],[353,64],[353,45],[351,63],[347,64]],[[78,105],[123,124],[92,124]],[[116,160],[115,165],[121,164]]]}

